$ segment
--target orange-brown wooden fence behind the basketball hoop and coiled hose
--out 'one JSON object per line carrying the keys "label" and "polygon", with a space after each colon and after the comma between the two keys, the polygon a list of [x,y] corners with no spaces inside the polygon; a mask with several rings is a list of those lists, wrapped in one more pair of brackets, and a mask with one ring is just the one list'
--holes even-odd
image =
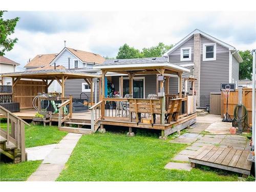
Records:
{"label": "orange-brown wooden fence behind the basketball hoop and coiled hose", "polygon": [[[226,113],[226,97],[221,93],[221,117],[223,118]],[[230,92],[228,97],[228,114],[233,118],[234,108],[238,104],[238,90]],[[243,88],[243,105],[245,105],[248,111],[248,123],[251,124],[252,115],[252,89]]]}

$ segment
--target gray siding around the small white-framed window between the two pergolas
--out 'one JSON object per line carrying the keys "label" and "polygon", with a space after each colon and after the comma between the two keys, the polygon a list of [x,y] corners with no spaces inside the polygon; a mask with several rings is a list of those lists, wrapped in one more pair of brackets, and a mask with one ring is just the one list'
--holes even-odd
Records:
{"label": "gray siding around the small white-framed window between the two pergolas", "polygon": [[[65,82],[65,96],[68,97],[72,95],[73,98],[80,98],[80,94],[82,93],[82,82],[86,82],[83,79],[67,79]],[[93,101],[95,101],[95,83],[97,84],[97,102],[99,101],[99,83],[97,83],[97,78],[93,79],[94,82],[94,93],[93,93]],[[88,95],[89,101],[91,101],[91,92],[84,92]],[[82,99],[87,98],[84,94],[81,96]]]}

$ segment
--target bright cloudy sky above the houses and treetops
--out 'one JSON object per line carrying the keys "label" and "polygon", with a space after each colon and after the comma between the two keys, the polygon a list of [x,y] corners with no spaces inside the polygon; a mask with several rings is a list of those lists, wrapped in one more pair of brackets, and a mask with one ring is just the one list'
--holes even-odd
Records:
{"label": "bright cloudy sky above the houses and treetops", "polygon": [[22,66],[37,54],[60,52],[63,40],[67,47],[115,57],[124,43],[137,49],[176,44],[194,29],[238,50],[256,48],[255,12],[9,11],[4,17],[20,17],[12,35],[18,42],[6,57]]}

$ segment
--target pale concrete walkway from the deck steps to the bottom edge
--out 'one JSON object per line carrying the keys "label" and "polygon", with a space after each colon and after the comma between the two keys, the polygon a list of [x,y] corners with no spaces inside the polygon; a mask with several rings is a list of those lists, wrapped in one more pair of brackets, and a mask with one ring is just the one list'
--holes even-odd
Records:
{"label": "pale concrete walkway from the deck steps to the bottom edge", "polygon": [[69,133],[64,137],[54,146],[28,181],[55,181],[81,136],[81,134]]}

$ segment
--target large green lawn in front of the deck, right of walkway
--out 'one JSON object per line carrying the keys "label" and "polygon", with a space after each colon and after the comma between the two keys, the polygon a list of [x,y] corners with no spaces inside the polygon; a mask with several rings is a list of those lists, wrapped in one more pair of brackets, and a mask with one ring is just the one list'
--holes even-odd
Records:
{"label": "large green lawn in front of the deck, right of walkway", "polygon": [[83,135],[58,181],[237,181],[238,175],[208,168],[164,169],[184,144],[156,137],[107,133]]}

